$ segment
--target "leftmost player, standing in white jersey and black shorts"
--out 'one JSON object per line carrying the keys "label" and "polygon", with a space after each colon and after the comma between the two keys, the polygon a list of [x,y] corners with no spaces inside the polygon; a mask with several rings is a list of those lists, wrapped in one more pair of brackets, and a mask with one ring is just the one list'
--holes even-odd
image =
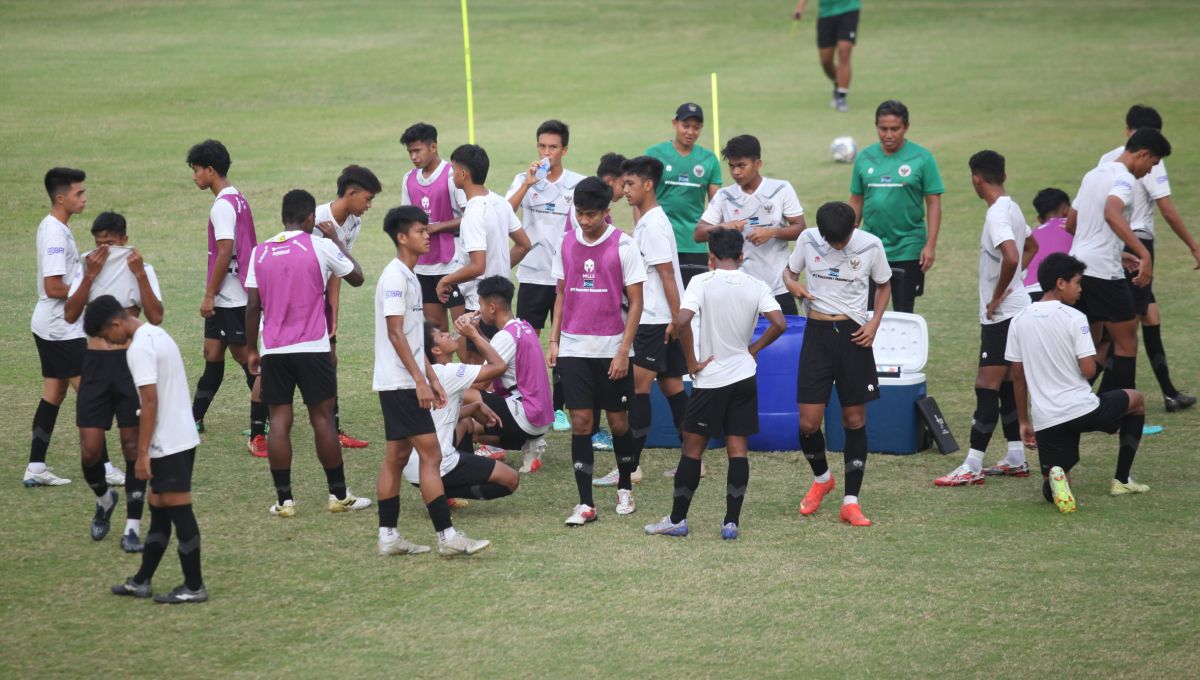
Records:
{"label": "leftmost player, standing in white jersey and black shorts", "polygon": [[79,266],[79,248],[67,223],[88,206],[86,173],[73,168],[50,168],[46,193],[50,213],[37,225],[37,305],[30,320],[34,344],[42,365],[42,398],[34,411],[29,464],[22,479],[26,487],[60,487],[71,480],[46,467],[46,451],[67,397],[67,386],[79,389],[83,357],[88,348],[83,324],[62,318],[70,291],[70,277]]}

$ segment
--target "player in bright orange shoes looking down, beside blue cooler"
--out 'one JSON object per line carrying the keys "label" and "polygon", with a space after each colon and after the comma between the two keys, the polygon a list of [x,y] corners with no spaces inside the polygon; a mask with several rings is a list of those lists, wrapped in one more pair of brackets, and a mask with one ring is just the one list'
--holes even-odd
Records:
{"label": "player in bright orange shoes looking down, beside blue cooler", "polygon": [[[805,229],[787,259],[784,281],[792,295],[806,300],[808,323],[800,347],[796,387],[800,414],[800,450],[812,468],[812,486],[800,500],[800,514],[821,507],[835,481],[826,461],[821,421],[829,391],[838,386],[841,425],[846,428],[846,494],[841,520],[870,526],[858,493],[866,471],[866,403],[880,398],[871,344],[883,320],[892,293],[888,266],[880,237],[854,229],[854,210],[845,203],[827,203],[817,210],[817,228]],[[808,272],[808,285],[798,277]],[[866,308],[875,284],[874,311]]]}

